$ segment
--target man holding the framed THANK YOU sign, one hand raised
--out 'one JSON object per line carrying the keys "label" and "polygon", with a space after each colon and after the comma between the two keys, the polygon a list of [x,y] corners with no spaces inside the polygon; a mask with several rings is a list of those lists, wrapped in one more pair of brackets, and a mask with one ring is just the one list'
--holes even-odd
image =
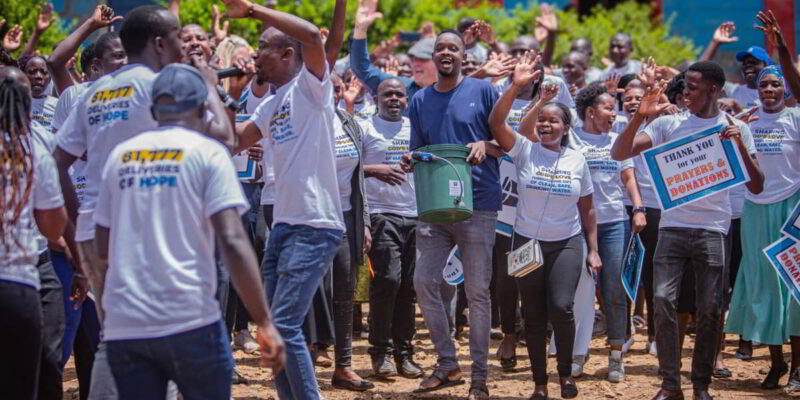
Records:
{"label": "man holding the framed THANK YOU sign, one hand raised", "polygon": [[[642,151],[674,139],[723,125],[722,140],[730,140],[741,153],[750,176],[747,190],[760,193],[764,174],[755,159],[755,144],[749,128],[733,120],[717,106],[725,84],[725,73],[718,64],[700,61],[686,71],[683,95],[687,112],[667,115],[651,122],[637,135],[642,122],[662,112],[669,103],[659,104],[666,88],[648,89],[630,123],[611,149],[618,161],[637,156]],[[694,273],[697,285],[697,339],[692,362],[692,386],[696,400],[708,400],[708,385],[714,368],[719,341],[723,291],[727,288],[728,246],[726,235],[731,223],[728,191],[664,211],[658,231],[654,257],[653,286],[655,303],[656,346],[658,348],[661,390],[654,400],[683,399],[680,382],[677,301],[684,273]]]}

